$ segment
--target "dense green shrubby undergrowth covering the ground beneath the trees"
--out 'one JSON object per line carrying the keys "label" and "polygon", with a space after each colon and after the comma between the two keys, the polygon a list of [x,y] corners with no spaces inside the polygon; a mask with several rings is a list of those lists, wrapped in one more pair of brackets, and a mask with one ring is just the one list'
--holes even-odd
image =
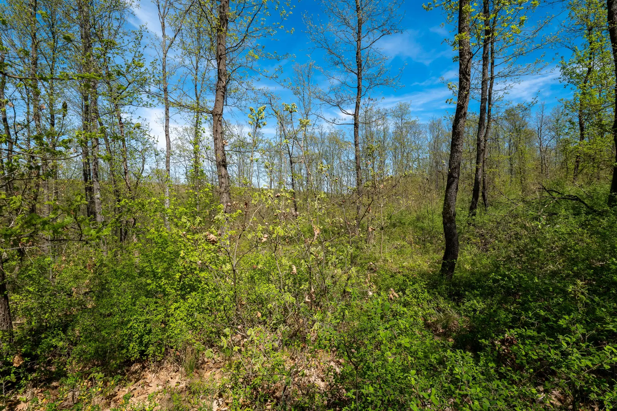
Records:
{"label": "dense green shrubby undergrowth covering the ground beneath the trees", "polygon": [[[355,235],[342,200],[296,215],[289,193],[265,190],[225,217],[209,191],[193,194],[165,221],[159,200],[133,204],[147,211],[128,243],[64,244],[6,267],[7,398],[52,381],[108,389],[135,362],[192,370],[214,358],[231,409],[617,404],[617,214],[600,196],[505,203],[473,220],[462,210],[447,281],[430,205],[382,202],[383,229]],[[309,369],[325,388],[302,383]]]}

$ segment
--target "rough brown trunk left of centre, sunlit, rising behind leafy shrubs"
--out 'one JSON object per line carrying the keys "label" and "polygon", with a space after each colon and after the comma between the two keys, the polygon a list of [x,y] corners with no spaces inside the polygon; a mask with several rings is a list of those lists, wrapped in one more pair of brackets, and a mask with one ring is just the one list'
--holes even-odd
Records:
{"label": "rough brown trunk left of centre, sunlit, rising behind leafy shrubs", "polygon": [[[217,23],[217,83],[212,107],[212,138],[214,140],[214,155],[217,163],[218,195],[223,204],[223,210],[230,212],[230,175],[227,171],[227,156],[223,139],[223,109],[227,93],[227,30],[229,25],[230,0],[220,0]],[[230,204],[231,205],[231,204]]]}

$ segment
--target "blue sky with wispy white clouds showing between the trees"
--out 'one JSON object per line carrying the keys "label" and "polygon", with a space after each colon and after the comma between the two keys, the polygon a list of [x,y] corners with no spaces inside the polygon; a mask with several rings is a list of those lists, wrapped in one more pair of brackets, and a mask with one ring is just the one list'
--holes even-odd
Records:
{"label": "blue sky with wispy white clouds showing between the trees", "polygon": [[[320,2],[300,0],[295,6],[291,17],[285,23],[287,28],[294,28],[294,33],[292,35],[281,33],[276,41],[268,43],[268,47],[275,48],[280,54],[287,52],[294,55],[293,59],[280,62],[283,66],[283,77],[291,76],[292,67],[296,62],[302,64],[312,58],[318,65],[321,64],[320,54],[318,52],[311,54],[309,39],[302,22],[302,15],[305,13],[320,14]],[[442,81],[442,78],[446,82],[457,80],[458,67],[452,61],[455,52],[444,42],[444,38],[452,35],[449,33],[452,27],[442,25],[444,16],[440,10],[426,11],[421,1],[407,0],[402,6],[402,12],[404,12],[402,22],[404,33],[389,36],[381,43],[384,54],[391,57],[389,64],[392,69],[398,70],[404,67],[400,87],[379,90],[373,97],[378,98],[385,107],[394,106],[399,101],[409,102],[413,115],[423,122],[435,115],[442,116],[453,112],[453,105],[446,102],[452,97],[452,93]],[[539,9],[536,15],[547,13],[555,14],[555,10]],[[156,10],[151,1],[141,0],[141,5],[135,9],[135,14],[136,24],[146,24],[152,31],[156,31],[159,27]],[[559,19],[555,18],[552,25],[547,27],[547,31],[557,30],[559,23]],[[154,54],[153,51],[150,52]],[[547,58],[553,59],[556,52],[547,50]],[[534,59],[537,56],[528,58]],[[560,98],[569,96],[569,90],[558,82],[556,62],[557,60],[550,62],[547,69],[540,75],[522,78],[520,83],[513,85],[507,99],[517,103],[537,98],[538,101],[545,101],[547,108],[550,109],[558,103]],[[320,81],[319,78],[317,80]],[[281,95],[282,101],[292,101],[289,91],[271,83],[269,85]],[[477,109],[478,103],[472,101],[470,110]],[[160,107],[143,109],[139,110],[139,114],[149,120],[152,133],[159,136],[159,141],[162,141],[162,136],[160,136],[162,128],[157,124],[160,123],[162,109]],[[238,119],[246,117],[240,113],[230,113],[230,115],[238,116]],[[176,116],[172,118],[172,123],[181,125],[183,120]]]}

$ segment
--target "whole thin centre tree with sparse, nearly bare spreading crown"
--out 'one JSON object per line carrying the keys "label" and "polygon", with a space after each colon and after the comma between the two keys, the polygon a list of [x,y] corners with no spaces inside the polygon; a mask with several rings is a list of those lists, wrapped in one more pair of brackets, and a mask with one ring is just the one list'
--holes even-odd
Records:
{"label": "whole thin centre tree with sparse, nearly bare spreading crown", "polygon": [[327,120],[354,127],[356,231],[360,226],[359,197],[363,187],[360,109],[363,99],[377,89],[397,86],[399,76],[390,75],[388,57],[382,54],[378,42],[402,32],[401,4],[399,0],[321,0],[321,12],[327,16],[324,20],[304,15],[312,47],[324,52],[327,64],[321,72],[328,79],[329,88],[320,94],[320,99],[352,118],[352,123],[340,118]]}

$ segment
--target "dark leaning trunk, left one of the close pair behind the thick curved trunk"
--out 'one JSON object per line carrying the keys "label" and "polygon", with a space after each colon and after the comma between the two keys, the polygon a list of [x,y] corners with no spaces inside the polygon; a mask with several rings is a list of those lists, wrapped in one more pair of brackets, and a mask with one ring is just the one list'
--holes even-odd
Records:
{"label": "dark leaning trunk, left one of the close pair behind the thick curved trunk", "polygon": [[469,214],[471,217],[476,215],[480,189],[482,184],[482,173],[484,169],[484,138],[486,135],[486,103],[489,88],[489,46],[491,43],[491,11],[489,10],[489,0],[484,0],[484,41],[482,42],[482,84],[480,92],[480,117],[478,118],[478,135],[476,136],[476,173],[473,180],[473,192],[471,194],[471,204]]}

